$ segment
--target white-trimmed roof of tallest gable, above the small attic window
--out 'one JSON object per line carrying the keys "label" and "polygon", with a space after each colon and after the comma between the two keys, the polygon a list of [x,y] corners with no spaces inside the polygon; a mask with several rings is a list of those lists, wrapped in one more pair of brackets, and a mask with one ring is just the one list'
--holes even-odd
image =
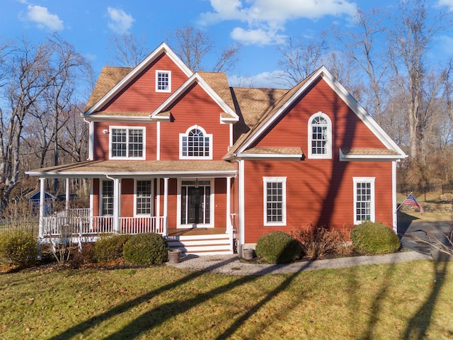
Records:
{"label": "white-trimmed roof of tallest gable, above the small attic window", "polygon": [[[165,53],[168,57],[170,57],[171,60],[183,71],[187,77],[191,77],[193,75],[193,72],[190,71],[190,69],[185,66],[185,64],[178,58],[178,56],[170,50],[168,45],[166,45],[165,42],[162,42],[159,47],[156,48],[153,52],[151,52],[148,57],[146,57],[140,64],[137,65],[137,67],[134,67],[134,69],[129,69],[129,72],[127,74],[123,75],[122,78],[120,77],[120,74],[122,72],[126,72],[127,68],[122,68],[122,67],[113,67],[109,70],[105,70],[106,73],[103,75],[103,78],[101,79],[101,75],[99,77],[99,80],[101,80],[101,84],[99,85],[98,92],[96,93],[96,96],[93,97],[92,101],[88,101],[90,105],[87,105],[87,110],[83,114],[84,116],[91,115],[92,113],[98,111],[99,108],[102,108],[108,101],[110,101],[111,98],[113,98],[116,94],[118,94],[122,89],[125,88],[132,80],[134,80],[146,67],[151,64],[151,62],[154,62],[157,57],[162,55],[162,53]],[[121,71],[120,69],[123,69]],[[101,72],[102,74],[102,72]],[[108,75],[113,74],[113,79],[108,79]],[[119,78],[119,79],[118,79]],[[99,82],[98,80],[98,82]],[[105,82],[106,84],[102,84]],[[115,85],[108,89],[108,87],[115,82]],[[97,85],[97,84],[96,84]],[[95,86],[96,89],[96,86]],[[108,89],[105,94],[103,92],[105,89]],[[93,91],[94,92],[94,91]],[[100,94],[103,94],[102,96]],[[101,98],[98,98],[100,96]],[[91,98],[90,98],[91,100]]]}

